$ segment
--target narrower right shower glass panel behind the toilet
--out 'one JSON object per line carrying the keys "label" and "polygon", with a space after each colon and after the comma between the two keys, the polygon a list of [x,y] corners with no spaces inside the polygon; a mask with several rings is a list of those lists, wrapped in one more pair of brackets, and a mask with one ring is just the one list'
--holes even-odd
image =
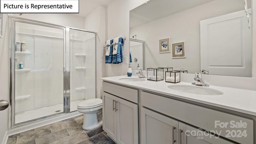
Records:
{"label": "narrower right shower glass panel behind the toilet", "polygon": [[70,29],[70,112],[96,97],[96,33]]}

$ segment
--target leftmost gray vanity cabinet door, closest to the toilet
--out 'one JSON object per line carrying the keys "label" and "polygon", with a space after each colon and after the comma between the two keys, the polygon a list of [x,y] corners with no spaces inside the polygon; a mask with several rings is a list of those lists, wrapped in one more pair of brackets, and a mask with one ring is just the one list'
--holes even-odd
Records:
{"label": "leftmost gray vanity cabinet door, closest to the toilet", "polygon": [[116,140],[116,112],[115,112],[115,100],[114,95],[110,95],[104,92],[102,101],[102,128],[105,132],[114,140]]}

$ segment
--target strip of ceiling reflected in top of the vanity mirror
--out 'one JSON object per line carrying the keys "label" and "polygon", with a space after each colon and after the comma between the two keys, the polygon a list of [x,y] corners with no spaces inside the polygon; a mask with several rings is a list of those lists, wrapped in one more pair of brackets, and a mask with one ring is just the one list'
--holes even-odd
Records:
{"label": "strip of ceiling reflected in top of the vanity mirror", "polygon": [[130,11],[130,27],[136,27],[213,0],[150,0]]}

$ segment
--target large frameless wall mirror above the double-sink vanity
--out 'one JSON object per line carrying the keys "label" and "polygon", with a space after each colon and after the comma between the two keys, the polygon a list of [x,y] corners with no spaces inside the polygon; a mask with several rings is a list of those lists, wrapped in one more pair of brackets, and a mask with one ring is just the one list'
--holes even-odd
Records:
{"label": "large frameless wall mirror above the double-sink vanity", "polygon": [[252,29],[244,8],[244,0],[150,0],[130,11],[130,38],[144,41],[144,70],[251,77]]}

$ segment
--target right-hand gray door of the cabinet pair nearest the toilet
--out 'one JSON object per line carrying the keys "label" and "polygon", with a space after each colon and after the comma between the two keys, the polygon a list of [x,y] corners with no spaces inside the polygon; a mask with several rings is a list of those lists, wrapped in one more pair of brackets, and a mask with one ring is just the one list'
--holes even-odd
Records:
{"label": "right-hand gray door of the cabinet pair nearest the toilet", "polygon": [[138,105],[118,98],[117,113],[117,143],[138,144]]}

